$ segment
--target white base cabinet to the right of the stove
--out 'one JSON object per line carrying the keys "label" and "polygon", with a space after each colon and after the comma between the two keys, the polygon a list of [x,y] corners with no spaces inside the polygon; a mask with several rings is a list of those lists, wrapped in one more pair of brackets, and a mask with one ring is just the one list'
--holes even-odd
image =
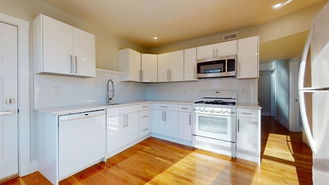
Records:
{"label": "white base cabinet to the right of the stove", "polygon": [[236,108],[236,157],[260,163],[260,109]]}

